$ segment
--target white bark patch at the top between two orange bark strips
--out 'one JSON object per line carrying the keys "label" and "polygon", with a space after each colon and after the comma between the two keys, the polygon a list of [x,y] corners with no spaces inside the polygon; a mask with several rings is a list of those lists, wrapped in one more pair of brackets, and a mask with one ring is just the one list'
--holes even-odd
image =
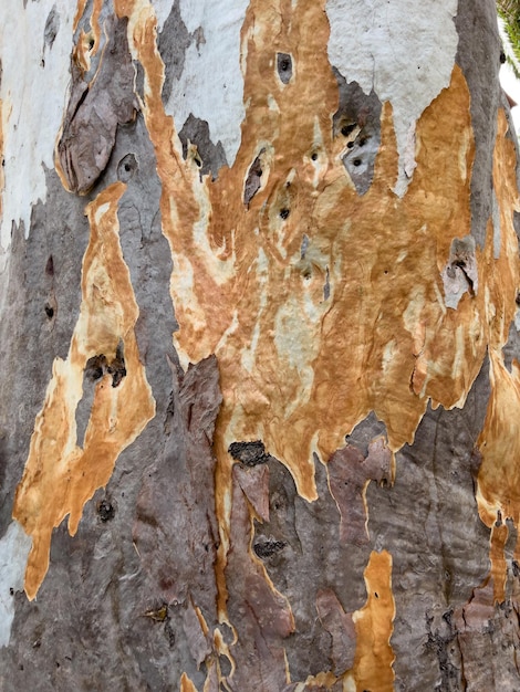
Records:
{"label": "white bark patch at the top between two orange bark strips", "polygon": [[188,115],[209,125],[211,141],[222,143],[232,166],[240,147],[243,107],[243,75],[240,71],[240,30],[249,0],[222,8],[215,0],[180,0],[180,14],[197,40],[185,54],[184,71],[175,81],[166,113],[177,132]]}

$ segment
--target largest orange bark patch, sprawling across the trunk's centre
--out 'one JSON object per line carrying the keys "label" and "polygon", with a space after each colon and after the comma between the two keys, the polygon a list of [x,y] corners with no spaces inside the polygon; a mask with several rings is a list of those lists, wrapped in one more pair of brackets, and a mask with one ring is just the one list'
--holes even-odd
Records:
{"label": "largest orange bark patch, sprawling across the trunk's centre", "polygon": [[[371,410],[398,449],[413,440],[429,397],[464,403],[481,365],[483,291],[448,310],[440,280],[451,241],[470,229],[466,82],[456,67],[450,87],[423,114],[417,169],[403,199],[392,189],[397,151],[384,108],[374,181],[360,197],[332,132],[337,85],[323,7],[283,3],[282,21],[281,6],[277,13],[251,2],[242,29],[241,147],[232,168],[200,182],[194,161],[179,156],[160,101],[152,9],[129,0],[116,7],[129,14],[132,50],[145,72],[144,114],[174,254],[176,347],[185,364],[211,353],[219,359],[222,483],[229,486],[230,442],[262,439],[312,500],[314,450],[327,459]],[[293,56],[287,85],[275,74],[277,51]],[[262,181],[246,205],[257,158]]]}

